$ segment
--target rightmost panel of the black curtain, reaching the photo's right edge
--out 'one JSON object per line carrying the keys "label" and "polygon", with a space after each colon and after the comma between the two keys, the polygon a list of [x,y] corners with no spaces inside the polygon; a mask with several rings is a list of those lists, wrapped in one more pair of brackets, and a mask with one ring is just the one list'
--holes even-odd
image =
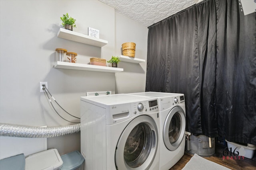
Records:
{"label": "rightmost panel of the black curtain, reaching the photo's right edge", "polygon": [[216,1],[216,111],[228,141],[256,144],[256,13]]}

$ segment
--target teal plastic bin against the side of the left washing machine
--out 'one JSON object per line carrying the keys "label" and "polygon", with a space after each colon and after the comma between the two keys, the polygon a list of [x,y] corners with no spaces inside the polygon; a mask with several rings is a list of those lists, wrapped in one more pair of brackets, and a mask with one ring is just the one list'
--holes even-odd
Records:
{"label": "teal plastic bin against the side of the left washing machine", "polygon": [[84,157],[78,150],[60,156],[63,164],[60,170],[84,170]]}

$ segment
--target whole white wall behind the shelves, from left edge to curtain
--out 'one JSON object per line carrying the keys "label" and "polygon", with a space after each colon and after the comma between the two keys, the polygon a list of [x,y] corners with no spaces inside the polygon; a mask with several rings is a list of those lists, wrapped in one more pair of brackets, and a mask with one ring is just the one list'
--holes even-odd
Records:
{"label": "whole white wall behind the shelves, from left edge to curtain", "polygon": [[[99,29],[100,39],[107,40],[108,45],[100,48],[58,38],[60,17],[67,12],[76,19],[73,31],[88,34],[88,27]],[[109,60],[120,55],[122,43],[132,41],[137,44],[136,57],[146,59],[147,31],[98,0],[0,0],[0,123],[48,127],[72,124],[61,119],[46,95],[39,92],[42,81],[48,82],[58,103],[77,117],[80,96],[86,92],[144,91],[146,63],[121,62],[118,67],[124,72],[116,74],[57,69],[54,52],[56,48],[76,52],[77,63],[87,64],[90,57]],[[77,121],[63,111],[60,114]],[[60,154],[80,150],[80,133],[49,138],[48,148],[56,148]]]}

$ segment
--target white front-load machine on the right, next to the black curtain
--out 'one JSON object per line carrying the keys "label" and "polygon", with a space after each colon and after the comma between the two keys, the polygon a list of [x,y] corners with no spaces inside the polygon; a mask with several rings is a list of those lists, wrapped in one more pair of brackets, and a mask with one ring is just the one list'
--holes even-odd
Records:
{"label": "white front-load machine on the right, next to the black curtain", "polygon": [[159,170],[169,170],[184,155],[186,108],[184,94],[142,92],[132,95],[158,98],[159,131]]}

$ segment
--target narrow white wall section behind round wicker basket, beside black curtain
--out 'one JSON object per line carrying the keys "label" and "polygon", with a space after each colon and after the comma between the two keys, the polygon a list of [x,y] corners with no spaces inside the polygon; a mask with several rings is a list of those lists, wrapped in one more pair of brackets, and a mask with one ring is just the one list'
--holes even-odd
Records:
{"label": "narrow white wall section behind round wicker basket, beside black curtain", "polygon": [[[148,28],[117,12],[115,26],[116,55],[122,54],[123,43],[134,42],[136,43],[135,57],[146,60]],[[146,62],[139,64],[120,62],[118,67],[124,68],[124,72],[116,73],[116,93],[145,92]]]}

